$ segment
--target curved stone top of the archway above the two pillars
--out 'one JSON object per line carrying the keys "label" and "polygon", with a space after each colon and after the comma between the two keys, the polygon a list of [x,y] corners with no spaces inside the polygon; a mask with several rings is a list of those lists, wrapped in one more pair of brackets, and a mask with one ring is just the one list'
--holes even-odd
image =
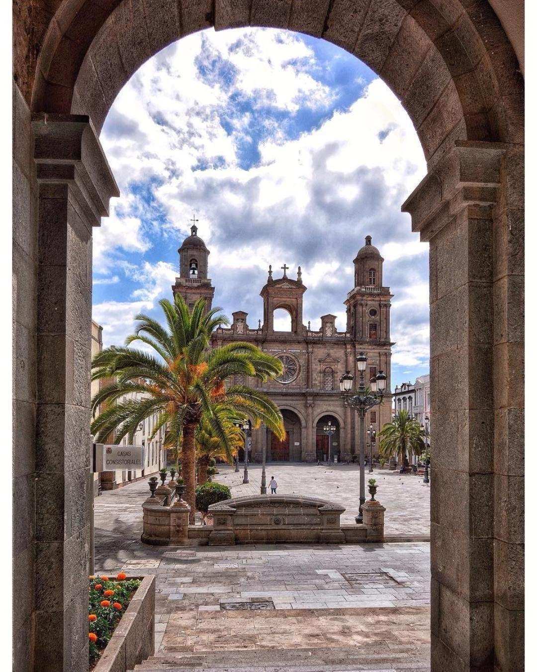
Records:
{"label": "curved stone top of the archway above the two pillars", "polygon": [[270,26],[324,38],[391,87],[426,158],[455,140],[520,142],[523,80],[486,0],[64,0],[38,57],[32,109],[89,114],[167,44],[214,26]]}

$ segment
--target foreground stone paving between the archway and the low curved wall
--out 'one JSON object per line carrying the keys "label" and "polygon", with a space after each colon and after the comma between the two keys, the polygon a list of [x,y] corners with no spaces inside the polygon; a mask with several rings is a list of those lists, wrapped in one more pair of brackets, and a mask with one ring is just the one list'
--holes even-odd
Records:
{"label": "foreground stone paving between the archway and the low curved wall", "polygon": [[145,546],[147,495],[95,501],[95,572],[156,575],[156,655],[137,670],[429,669],[428,543]]}

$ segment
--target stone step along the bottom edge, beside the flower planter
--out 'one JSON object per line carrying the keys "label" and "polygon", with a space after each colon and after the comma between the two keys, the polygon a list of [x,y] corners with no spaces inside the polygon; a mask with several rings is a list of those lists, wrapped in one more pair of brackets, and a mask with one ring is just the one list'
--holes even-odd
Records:
{"label": "stone step along the bottom edge, beside the flower planter", "polygon": [[162,653],[152,656],[136,672],[191,672],[193,670],[235,672],[336,672],[377,670],[393,672],[427,671],[429,644],[364,643],[330,648],[256,649]]}

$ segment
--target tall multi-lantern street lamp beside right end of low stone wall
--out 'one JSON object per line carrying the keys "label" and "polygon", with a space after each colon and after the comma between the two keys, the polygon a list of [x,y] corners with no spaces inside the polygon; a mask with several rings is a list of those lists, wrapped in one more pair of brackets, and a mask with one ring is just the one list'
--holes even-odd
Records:
{"label": "tall multi-lantern street lamp beside right end of low stone wall", "polygon": [[356,366],[360,373],[360,382],[356,391],[352,390],[354,376],[347,371],[340,378],[340,390],[344,405],[354,409],[358,413],[358,432],[360,439],[360,509],[356,516],[356,523],[362,523],[362,505],[365,503],[365,414],[369,409],[378,406],[383,401],[386,389],[387,376],[379,371],[375,378],[370,381],[371,388],[368,390],[364,384],[364,371],[367,366],[367,357],[363,352],[356,357]]}

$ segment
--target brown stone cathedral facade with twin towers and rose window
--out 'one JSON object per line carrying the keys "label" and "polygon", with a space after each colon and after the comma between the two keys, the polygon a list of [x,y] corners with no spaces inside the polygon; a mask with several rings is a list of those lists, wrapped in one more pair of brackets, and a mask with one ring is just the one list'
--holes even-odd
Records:
{"label": "brown stone cathedral facade with twin towers and rose window", "polygon": [[[197,228],[179,248],[180,277],[173,286],[192,306],[197,298],[205,298],[211,305],[214,288],[208,278],[209,250],[197,236]],[[367,413],[366,425],[373,425],[378,434],[391,419],[391,347],[390,302],[393,294],[383,286],[383,261],[379,250],[371,244],[371,236],[354,259],[354,288],[346,300],[346,325],[338,331],[336,317],[325,314],[321,327],[311,329],[303,324],[303,297],[307,290],[298,267],[296,278],[269,277],[260,291],[263,301],[263,320],[257,327],[248,325],[248,313],[232,313],[228,329],[217,329],[211,339],[212,347],[221,347],[231,341],[248,341],[271,353],[283,364],[283,374],[276,380],[261,382],[254,378],[236,377],[244,383],[268,394],[281,410],[286,437],[280,441],[266,427],[254,429],[249,437],[249,457],[254,462],[266,460],[284,462],[315,462],[336,458],[350,460],[358,452],[356,412],[345,407],[340,396],[340,377],[347,371],[358,381],[356,355],[367,355],[365,381],[382,370],[388,377],[385,401]],[[279,308],[291,316],[291,331],[274,328],[274,312]],[[331,422],[336,427],[330,440],[324,426]],[[369,440],[369,439],[368,439]],[[367,446],[366,454],[370,448]],[[376,454],[373,446],[373,454]]]}

